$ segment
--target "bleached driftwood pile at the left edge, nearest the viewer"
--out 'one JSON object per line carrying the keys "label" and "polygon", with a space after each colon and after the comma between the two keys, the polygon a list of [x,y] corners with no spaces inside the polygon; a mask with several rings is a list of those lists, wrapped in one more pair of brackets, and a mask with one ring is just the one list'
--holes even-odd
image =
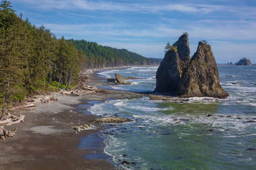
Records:
{"label": "bleached driftwood pile at the left edge, nearest the viewer", "polygon": [[15,116],[13,114],[9,114],[9,112],[6,113],[4,108],[0,118],[0,139],[5,140],[8,137],[14,137],[17,131],[17,128],[14,129],[13,131],[9,131],[5,129],[5,126],[10,126],[12,124],[24,122],[24,118],[25,116],[22,114],[19,116]]}

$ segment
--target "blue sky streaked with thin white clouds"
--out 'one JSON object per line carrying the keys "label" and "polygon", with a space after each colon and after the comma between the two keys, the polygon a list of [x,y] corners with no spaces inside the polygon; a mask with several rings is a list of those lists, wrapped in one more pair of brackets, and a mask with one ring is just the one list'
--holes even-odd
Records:
{"label": "blue sky streaked with thin white clouds", "polygon": [[169,41],[189,33],[212,46],[217,63],[256,63],[256,0],[11,0],[17,15],[56,37],[85,39],[163,58]]}

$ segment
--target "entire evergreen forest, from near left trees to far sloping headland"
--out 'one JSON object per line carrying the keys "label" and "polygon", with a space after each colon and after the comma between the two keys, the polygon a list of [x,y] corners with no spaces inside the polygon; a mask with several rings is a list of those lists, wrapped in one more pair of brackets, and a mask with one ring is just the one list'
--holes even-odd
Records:
{"label": "entire evergreen forest, from near left trees to far sloping headland", "polygon": [[86,68],[157,64],[128,50],[58,39],[44,26],[16,15],[10,1],[0,4],[0,35],[1,107],[34,92],[69,90]]}

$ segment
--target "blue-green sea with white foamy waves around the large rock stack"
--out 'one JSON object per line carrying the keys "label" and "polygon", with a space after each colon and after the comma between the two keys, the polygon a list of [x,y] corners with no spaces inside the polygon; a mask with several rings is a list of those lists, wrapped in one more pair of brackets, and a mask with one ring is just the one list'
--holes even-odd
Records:
{"label": "blue-green sea with white foamy waves around the large rock stack", "polygon": [[[154,90],[156,71],[157,67],[134,67],[99,75],[110,78],[118,72],[144,78],[104,87],[144,92]],[[181,103],[145,97],[91,106],[93,114],[133,120],[105,130],[111,135],[101,135],[116,169],[256,169],[256,151],[248,150],[256,149],[256,67],[219,66],[219,72],[230,94],[224,100],[189,98]]]}

